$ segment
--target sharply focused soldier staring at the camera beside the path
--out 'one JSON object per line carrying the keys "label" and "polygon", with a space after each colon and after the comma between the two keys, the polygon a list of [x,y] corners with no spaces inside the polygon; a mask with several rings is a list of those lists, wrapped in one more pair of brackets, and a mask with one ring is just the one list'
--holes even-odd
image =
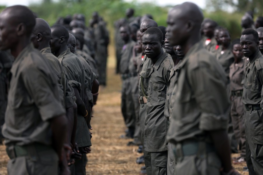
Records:
{"label": "sharply focused soldier staring at the camera beside the path", "polygon": [[[146,172],[167,174],[167,129],[168,121],[164,115],[166,90],[170,69],[174,66],[172,58],[164,53],[162,31],[157,27],[147,29],[142,38],[142,48],[152,66],[148,74],[148,95],[143,130],[143,154]],[[144,66],[143,65],[143,69]],[[140,81],[143,82],[143,71]],[[145,88],[141,83],[141,89]],[[139,90],[140,91],[140,90]],[[143,100],[140,98],[140,101]],[[141,119],[140,119],[141,120]]]}

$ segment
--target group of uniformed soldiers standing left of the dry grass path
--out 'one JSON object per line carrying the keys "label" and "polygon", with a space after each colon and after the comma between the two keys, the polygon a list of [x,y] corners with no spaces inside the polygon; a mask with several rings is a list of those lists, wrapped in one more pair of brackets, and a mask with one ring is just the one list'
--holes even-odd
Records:
{"label": "group of uniformed soldiers standing left of the dry grass path", "polygon": [[[50,27],[25,6],[0,14],[1,124],[10,175],[86,174],[108,33],[96,12],[91,29],[80,14],[65,21]],[[91,32],[95,40],[86,38]]]}

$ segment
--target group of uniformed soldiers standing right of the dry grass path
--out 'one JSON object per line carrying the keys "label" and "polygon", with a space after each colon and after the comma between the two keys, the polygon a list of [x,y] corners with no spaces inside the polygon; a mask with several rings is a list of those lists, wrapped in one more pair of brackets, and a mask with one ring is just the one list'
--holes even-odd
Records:
{"label": "group of uniformed soldiers standing right of the dry grass path", "polygon": [[[180,8],[189,14],[194,9],[197,16],[179,15]],[[116,22],[120,24],[115,32],[115,42],[120,43],[116,44],[120,59],[116,72],[122,78],[121,107],[128,128],[124,137],[134,138],[128,145],[141,145],[138,151],[142,149],[144,155],[136,162],[145,162],[142,174],[238,174],[230,161],[230,153],[238,153],[238,145],[241,154],[232,158],[233,163],[247,162],[250,174],[260,174],[261,17],[255,22],[255,31],[252,17],[246,13],[241,38],[231,42],[227,29],[210,19],[202,22],[198,11],[192,3],[174,7],[168,13],[167,33],[154,20],[144,19],[139,22],[136,39],[134,28],[140,18],[134,18],[137,24],[124,19]],[[188,24],[191,30],[182,32],[187,27],[177,22]],[[202,38],[198,38],[200,31]],[[193,39],[194,46],[188,43],[193,47],[191,56],[186,52],[189,38],[180,37],[179,32]],[[193,155],[205,159],[196,160]],[[210,158],[213,161],[209,162]]]}

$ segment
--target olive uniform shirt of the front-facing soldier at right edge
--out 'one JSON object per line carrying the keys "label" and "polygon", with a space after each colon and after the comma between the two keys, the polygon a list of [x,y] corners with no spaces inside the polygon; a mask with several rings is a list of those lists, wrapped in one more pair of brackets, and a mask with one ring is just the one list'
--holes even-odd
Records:
{"label": "olive uniform shirt of the front-facing soldier at right edge", "polygon": [[260,51],[257,51],[255,58],[248,62],[245,71],[243,86],[243,104],[262,104],[262,84],[263,84],[263,57]]}

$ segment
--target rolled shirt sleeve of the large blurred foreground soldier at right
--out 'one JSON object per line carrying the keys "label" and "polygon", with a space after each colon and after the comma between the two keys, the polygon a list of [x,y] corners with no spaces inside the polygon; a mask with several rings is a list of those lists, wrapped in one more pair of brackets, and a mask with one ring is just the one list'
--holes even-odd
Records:
{"label": "rolled shirt sleeve of the large blurred foreground soldier at right", "polygon": [[217,70],[203,66],[188,73],[196,103],[201,110],[199,128],[207,131],[226,129],[230,103],[225,82],[217,75]]}

